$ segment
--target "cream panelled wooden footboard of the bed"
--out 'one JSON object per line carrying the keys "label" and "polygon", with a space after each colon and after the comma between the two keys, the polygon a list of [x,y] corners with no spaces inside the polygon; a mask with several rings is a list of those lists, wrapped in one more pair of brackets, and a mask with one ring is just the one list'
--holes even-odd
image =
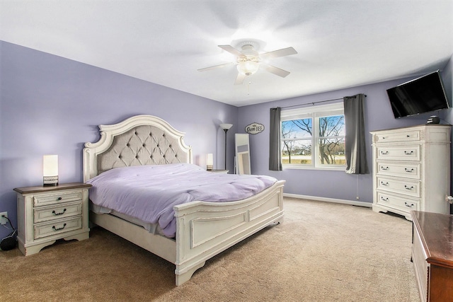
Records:
{"label": "cream panelled wooden footboard of the bed", "polygon": [[239,202],[190,202],[175,206],[176,285],[188,281],[205,261],[283,219],[283,185]]}

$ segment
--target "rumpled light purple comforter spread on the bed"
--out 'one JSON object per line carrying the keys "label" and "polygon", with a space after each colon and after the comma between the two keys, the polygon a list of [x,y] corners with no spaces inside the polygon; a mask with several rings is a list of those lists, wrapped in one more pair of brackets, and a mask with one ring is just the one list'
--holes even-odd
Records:
{"label": "rumpled light purple comforter spread on the bed", "polygon": [[173,206],[193,201],[231,202],[272,186],[265,175],[211,173],[190,163],[115,168],[88,180],[93,204],[113,209],[147,223],[159,223],[173,237]]}

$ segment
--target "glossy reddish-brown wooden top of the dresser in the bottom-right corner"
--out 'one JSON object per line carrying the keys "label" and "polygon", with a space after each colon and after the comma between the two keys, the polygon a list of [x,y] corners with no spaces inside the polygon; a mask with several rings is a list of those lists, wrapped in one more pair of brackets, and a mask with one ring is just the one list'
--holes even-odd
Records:
{"label": "glossy reddish-brown wooden top of the dresser in the bottom-right corner", "polygon": [[427,262],[453,268],[453,215],[411,211]]}

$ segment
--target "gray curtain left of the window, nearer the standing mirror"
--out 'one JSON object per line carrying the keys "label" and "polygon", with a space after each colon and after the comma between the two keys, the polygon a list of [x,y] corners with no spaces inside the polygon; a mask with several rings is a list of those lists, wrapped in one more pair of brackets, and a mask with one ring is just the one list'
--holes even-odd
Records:
{"label": "gray curtain left of the window, nearer the standing mirror", "polygon": [[282,108],[270,108],[269,170],[281,171],[280,153],[280,112]]}

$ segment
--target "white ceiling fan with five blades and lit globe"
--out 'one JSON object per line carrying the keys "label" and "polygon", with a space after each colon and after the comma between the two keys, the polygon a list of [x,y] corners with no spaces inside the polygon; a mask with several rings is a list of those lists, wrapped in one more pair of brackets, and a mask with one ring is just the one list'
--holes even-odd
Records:
{"label": "white ceiling fan with five blades and lit globe", "polygon": [[236,56],[236,62],[229,62],[225,64],[210,66],[198,69],[198,71],[208,71],[211,69],[236,64],[238,69],[238,76],[236,77],[236,81],[234,81],[234,85],[240,85],[241,83],[243,83],[243,80],[246,79],[246,76],[251,76],[252,74],[255,74],[259,68],[265,69],[266,71],[269,71],[271,74],[281,76],[282,78],[285,78],[285,76],[289,74],[289,71],[269,65],[265,63],[264,60],[276,57],[285,57],[291,54],[297,54],[297,51],[294,50],[294,48],[287,47],[282,48],[281,50],[274,50],[273,52],[265,52],[263,54],[258,54],[253,44],[254,44],[253,42],[243,42],[241,50],[236,50],[236,48],[232,47],[231,45],[218,45],[223,50],[226,50],[227,52],[234,54]]}

